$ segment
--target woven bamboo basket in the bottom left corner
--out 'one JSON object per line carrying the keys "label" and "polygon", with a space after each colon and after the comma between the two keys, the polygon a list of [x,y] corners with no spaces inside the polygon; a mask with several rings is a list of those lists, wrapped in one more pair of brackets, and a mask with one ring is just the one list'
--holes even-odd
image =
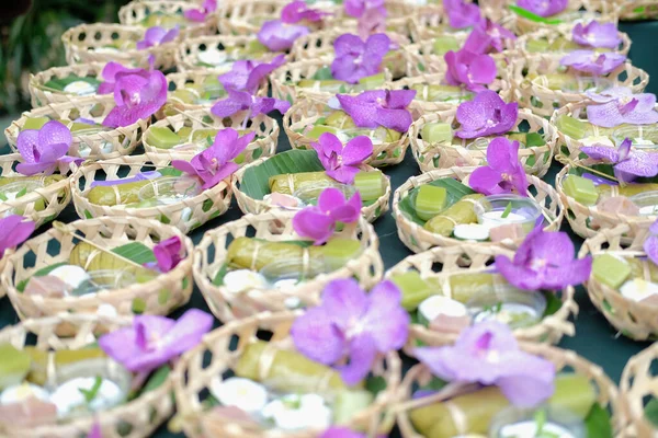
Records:
{"label": "woven bamboo basket in the bottom left corner", "polygon": [[[44,351],[76,350],[97,342],[99,333],[129,326],[131,318],[97,316],[91,314],[60,313],[55,316],[26,320],[0,331],[0,343],[9,343],[18,349],[27,345],[29,338],[36,336],[36,348]],[[57,335],[61,325],[73,327],[75,337]],[[103,438],[146,438],[150,436],[173,413],[168,379],[159,388],[141,396],[95,416],[78,417],[66,423],[34,427],[7,425],[2,436],[7,438],[71,438],[86,437],[94,426],[100,425]],[[126,430],[128,433],[126,434]]]}

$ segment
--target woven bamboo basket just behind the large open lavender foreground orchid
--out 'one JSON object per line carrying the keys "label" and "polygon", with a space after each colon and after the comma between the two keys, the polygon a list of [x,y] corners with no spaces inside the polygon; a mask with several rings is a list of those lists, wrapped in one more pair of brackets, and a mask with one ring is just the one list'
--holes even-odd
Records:
{"label": "woven bamboo basket just behind the large open lavender foreground orchid", "polygon": [[[384,265],[379,255],[379,241],[373,227],[363,218],[356,229],[347,227],[340,235],[354,238],[361,242],[362,252],[340,269],[320,274],[311,281],[305,281],[285,292],[276,289],[251,289],[232,293],[225,286],[215,286],[213,280],[225,266],[230,241],[245,235],[268,241],[290,241],[300,238],[293,230],[295,211],[272,209],[260,215],[246,215],[206,232],[196,246],[194,255],[194,279],[208,307],[222,322],[250,316],[265,310],[284,311],[286,299],[296,297],[303,304],[319,303],[325,286],[337,278],[355,277],[362,287],[370,289],[382,279]],[[307,262],[305,262],[307,263]]]}

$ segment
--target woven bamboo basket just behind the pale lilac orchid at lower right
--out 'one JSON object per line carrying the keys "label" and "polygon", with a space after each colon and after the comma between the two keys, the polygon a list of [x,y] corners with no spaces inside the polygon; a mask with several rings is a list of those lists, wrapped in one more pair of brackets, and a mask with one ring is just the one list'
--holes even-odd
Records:
{"label": "woven bamboo basket just behind the pale lilac orchid at lower right", "polygon": [[[506,255],[513,258],[514,251],[497,246],[483,246],[464,244],[461,246],[433,247],[420,254],[413,254],[386,272],[385,278],[390,279],[396,274],[418,272],[421,278],[436,279],[441,290],[436,295],[452,298],[450,277],[460,274],[477,274],[491,270],[491,263],[497,255]],[[441,264],[441,272],[435,272],[434,266]],[[561,307],[554,314],[545,316],[538,324],[514,330],[514,336],[519,341],[532,343],[558,344],[563,336],[574,336],[576,326],[569,319],[578,315],[578,304],[574,299],[574,288],[561,290]],[[430,330],[423,325],[413,325],[413,336],[409,338],[405,350],[411,353],[416,341],[429,345],[451,344],[456,334],[441,333]]]}

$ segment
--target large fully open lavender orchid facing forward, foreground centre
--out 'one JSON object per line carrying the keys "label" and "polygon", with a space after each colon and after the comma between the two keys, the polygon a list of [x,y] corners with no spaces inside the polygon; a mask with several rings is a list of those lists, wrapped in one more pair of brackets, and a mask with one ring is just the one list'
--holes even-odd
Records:
{"label": "large fully open lavender orchid facing forward, foreground centre", "polygon": [[349,351],[350,362],[337,367],[348,385],[367,376],[377,353],[401,348],[408,334],[409,314],[397,286],[383,281],[365,293],[352,278],[327,285],[322,303],[297,318],[291,330],[295,347],[311,360],[334,365]]}

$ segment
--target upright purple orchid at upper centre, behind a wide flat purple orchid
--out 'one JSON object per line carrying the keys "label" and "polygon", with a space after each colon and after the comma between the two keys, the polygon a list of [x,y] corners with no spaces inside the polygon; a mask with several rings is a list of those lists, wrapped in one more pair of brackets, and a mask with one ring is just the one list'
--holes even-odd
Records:
{"label": "upright purple orchid at upper centre, behind a wide flat purple orchid", "polygon": [[389,47],[390,38],[385,34],[371,35],[365,42],[356,35],[343,34],[333,42],[336,58],[331,73],[340,81],[356,83],[379,71]]}

